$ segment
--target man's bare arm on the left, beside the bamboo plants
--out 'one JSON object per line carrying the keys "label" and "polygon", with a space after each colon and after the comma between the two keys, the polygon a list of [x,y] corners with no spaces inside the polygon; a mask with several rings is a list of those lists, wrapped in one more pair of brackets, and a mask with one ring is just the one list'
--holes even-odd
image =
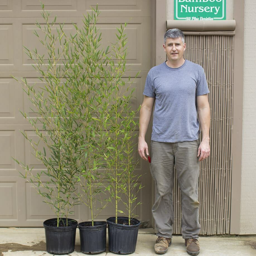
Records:
{"label": "man's bare arm on the left, beside the bamboo plants", "polygon": [[145,141],[145,135],[148,130],[148,125],[151,119],[155,98],[144,96],[143,103],[139,113],[139,146],[138,151],[141,158],[148,160],[145,156],[148,154],[148,144]]}

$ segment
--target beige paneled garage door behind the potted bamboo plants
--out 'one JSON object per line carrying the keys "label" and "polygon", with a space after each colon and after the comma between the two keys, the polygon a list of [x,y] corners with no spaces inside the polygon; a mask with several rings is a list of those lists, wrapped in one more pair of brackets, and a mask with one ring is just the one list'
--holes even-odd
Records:
{"label": "beige paneled garage door behind the potted bamboo plants", "polygon": [[[127,22],[128,63],[131,64],[127,76],[135,76],[134,104],[138,107],[142,102],[142,92],[146,75],[151,67],[151,8],[150,0],[44,0],[45,9],[57,16],[58,23],[65,23],[64,30],[72,32],[72,22],[80,26],[83,13],[98,3],[102,11],[99,19],[103,38],[108,41],[115,37],[115,28]],[[39,0],[0,0],[0,226],[42,226],[45,219],[54,218],[50,208],[42,203],[32,184],[19,177],[20,166],[12,160],[16,158],[26,165],[34,166],[35,172],[42,166],[32,155],[20,131],[26,131],[30,138],[34,133],[27,120],[19,110],[30,112],[30,103],[23,93],[22,87],[10,75],[20,80],[25,77],[30,83],[38,83],[31,66],[31,61],[23,52],[23,45],[28,49],[40,48],[33,31],[37,20],[42,23]],[[146,43],[145,43],[146,42]],[[30,113],[32,114],[32,113]],[[138,157],[138,155],[137,155]],[[138,201],[143,202],[136,210],[138,219],[144,221],[151,218],[150,209],[150,173],[146,162],[140,162],[138,173],[146,173],[141,178],[143,190]],[[98,220],[113,216],[113,207],[106,208]],[[88,209],[76,206],[71,218],[86,221]]]}

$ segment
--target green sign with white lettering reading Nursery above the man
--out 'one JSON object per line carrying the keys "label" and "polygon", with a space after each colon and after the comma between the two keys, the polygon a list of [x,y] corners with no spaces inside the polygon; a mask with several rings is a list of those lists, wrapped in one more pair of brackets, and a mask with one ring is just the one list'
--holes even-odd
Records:
{"label": "green sign with white lettering reading Nursery above the man", "polygon": [[174,0],[174,20],[226,20],[226,0]]}

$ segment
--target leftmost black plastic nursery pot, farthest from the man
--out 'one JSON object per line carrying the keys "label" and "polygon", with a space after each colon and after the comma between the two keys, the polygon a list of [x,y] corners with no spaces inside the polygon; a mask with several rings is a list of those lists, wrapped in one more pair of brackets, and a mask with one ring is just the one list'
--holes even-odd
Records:
{"label": "leftmost black plastic nursery pot, farthest from the man", "polygon": [[75,250],[77,221],[74,219],[60,219],[57,227],[57,218],[44,221],[46,250],[51,254],[69,254]]}

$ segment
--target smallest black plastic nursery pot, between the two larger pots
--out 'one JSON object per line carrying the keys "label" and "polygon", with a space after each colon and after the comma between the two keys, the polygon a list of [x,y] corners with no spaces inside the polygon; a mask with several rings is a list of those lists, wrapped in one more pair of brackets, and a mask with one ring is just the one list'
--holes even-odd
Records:
{"label": "smallest black plastic nursery pot, between the two larger pots", "polygon": [[78,224],[81,252],[94,254],[106,250],[106,221],[85,221]]}

